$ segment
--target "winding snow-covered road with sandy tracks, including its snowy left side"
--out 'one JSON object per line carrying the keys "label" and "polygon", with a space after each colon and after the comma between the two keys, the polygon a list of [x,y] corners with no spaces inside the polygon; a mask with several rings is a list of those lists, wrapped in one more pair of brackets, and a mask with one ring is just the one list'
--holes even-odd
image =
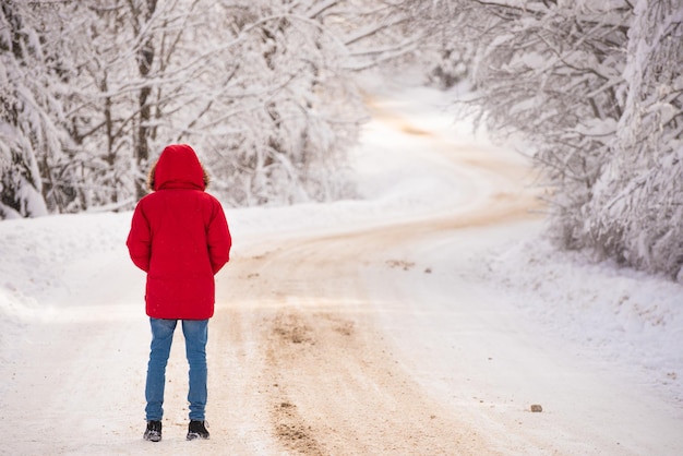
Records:
{"label": "winding snow-covered road with sandy tracks, including its snowy left side", "polygon": [[374,103],[364,200],[227,212],[206,442],[184,441],[180,332],[164,440],[142,441],[149,334],[130,214],[2,223],[0,453],[681,454],[680,400],[492,283],[492,252],[540,230],[524,161],[444,134],[416,99]]}

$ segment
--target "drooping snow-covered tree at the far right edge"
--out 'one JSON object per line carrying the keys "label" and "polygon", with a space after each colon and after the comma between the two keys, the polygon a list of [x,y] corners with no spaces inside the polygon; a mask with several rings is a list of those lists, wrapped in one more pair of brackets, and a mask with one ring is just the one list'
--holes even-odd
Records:
{"label": "drooping snow-covered tree at the far right edge", "polygon": [[648,271],[682,277],[683,3],[635,3],[622,116],[586,205],[577,242]]}

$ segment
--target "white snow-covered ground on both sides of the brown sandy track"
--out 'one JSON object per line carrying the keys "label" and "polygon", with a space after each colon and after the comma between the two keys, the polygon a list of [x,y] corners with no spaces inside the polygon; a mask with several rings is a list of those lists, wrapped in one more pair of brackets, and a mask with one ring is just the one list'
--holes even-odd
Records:
{"label": "white snow-covered ground on both sides of the brown sandy track", "polygon": [[[490,454],[683,454],[683,286],[553,251],[542,219],[515,206],[528,195],[496,177],[523,158],[454,124],[445,105],[426,88],[378,95],[382,121],[354,155],[363,199],[228,209],[232,262],[217,281],[237,280],[233,263],[274,240],[420,232],[427,217],[428,235],[396,231],[400,242],[358,266],[374,324],[427,396],[480,429]],[[472,166],[454,165],[450,147]],[[172,429],[160,446],[141,437],[148,328],[144,275],[124,247],[130,217],[0,223],[1,454],[187,451],[168,442]],[[284,452],[266,430],[238,431],[251,449],[230,454]]]}

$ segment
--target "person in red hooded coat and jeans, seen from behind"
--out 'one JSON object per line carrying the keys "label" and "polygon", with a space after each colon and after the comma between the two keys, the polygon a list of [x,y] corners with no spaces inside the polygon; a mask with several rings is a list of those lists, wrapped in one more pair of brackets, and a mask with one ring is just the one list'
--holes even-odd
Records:
{"label": "person in red hooded coat and jeans, seen from behind", "polygon": [[149,170],[147,184],[152,193],[135,206],[127,240],[131,260],[147,273],[145,304],[152,345],[144,439],[161,440],[166,364],[179,320],[190,365],[187,437],[208,439],[208,319],[214,314],[214,275],[230,259],[232,240],[223,207],[205,192],[208,177],[189,145],[167,146]]}

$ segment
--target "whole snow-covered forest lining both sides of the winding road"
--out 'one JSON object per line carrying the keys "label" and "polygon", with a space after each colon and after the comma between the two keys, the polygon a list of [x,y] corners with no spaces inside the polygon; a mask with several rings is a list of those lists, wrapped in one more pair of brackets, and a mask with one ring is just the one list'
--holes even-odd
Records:
{"label": "whole snow-covered forest lining both sides of the winding road", "polygon": [[470,89],[560,248],[683,277],[680,0],[4,0],[0,218],[130,209],[187,142],[231,206],[354,197],[367,71]]}

